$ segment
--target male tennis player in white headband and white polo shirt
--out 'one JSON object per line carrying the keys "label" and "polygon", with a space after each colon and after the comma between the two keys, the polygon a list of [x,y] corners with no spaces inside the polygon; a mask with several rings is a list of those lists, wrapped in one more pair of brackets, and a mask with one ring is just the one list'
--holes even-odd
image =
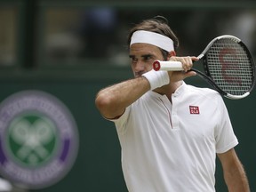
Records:
{"label": "male tennis player in white headband and white polo shirt", "polygon": [[[248,192],[228,110],[218,92],[185,84],[196,57],[177,57],[178,38],[163,17],[143,20],[128,37],[134,78],[100,90],[96,106],[116,124],[131,192],[213,192],[216,155],[228,191]],[[154,60],[183,72],[152,70]]]}

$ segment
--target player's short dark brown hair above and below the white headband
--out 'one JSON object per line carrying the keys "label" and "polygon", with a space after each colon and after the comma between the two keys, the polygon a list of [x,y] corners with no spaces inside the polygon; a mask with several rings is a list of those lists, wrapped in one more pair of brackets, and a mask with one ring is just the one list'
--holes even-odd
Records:
{"label": "player's short dark brown hair above and below the white headband", "polygon": [[[130,33],[128,35],[127,44],[130,47],[132,34],[137,30],[146,30],[161,34],[163,36],[168,36],[173,41],[174,51],[176,52],[179,47],[179,39],[173,33],[172,29],[168,25],[168,20],[163,16],[156,16],[152,19],[142,20],[139,24],[136,24],[133,28],[131,28]],[[161,49],[163,53],[164,59],[167,60],[167,56],[169,52]]]}

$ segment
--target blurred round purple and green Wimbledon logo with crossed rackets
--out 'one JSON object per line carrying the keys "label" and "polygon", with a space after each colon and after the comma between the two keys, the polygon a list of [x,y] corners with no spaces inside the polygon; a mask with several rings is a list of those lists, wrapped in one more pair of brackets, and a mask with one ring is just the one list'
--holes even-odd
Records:
{"label": "blurred round purple and green Wimbledon logo with crossed rackets", "polygon": [[71,169],[78,151],[76,123],[56,97],[13,94],[0,105],[0,172],[23,188],[46,188]]}

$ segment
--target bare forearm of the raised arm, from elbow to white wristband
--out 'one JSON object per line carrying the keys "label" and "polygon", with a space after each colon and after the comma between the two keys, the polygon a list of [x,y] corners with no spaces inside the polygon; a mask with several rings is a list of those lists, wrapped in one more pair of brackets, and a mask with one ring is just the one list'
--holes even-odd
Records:
{"label": "bare forearm of the raised arm, from elbow to white wristband", "polygon": [[102,116],[115,118],[149,89],[150,84],[145,77],[134,78],[101,90],[95,103]]}

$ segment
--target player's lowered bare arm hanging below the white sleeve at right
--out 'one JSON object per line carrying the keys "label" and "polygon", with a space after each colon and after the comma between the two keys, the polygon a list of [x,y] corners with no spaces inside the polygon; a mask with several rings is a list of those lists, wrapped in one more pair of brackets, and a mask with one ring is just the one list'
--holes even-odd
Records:
{"label": "player's lowered bare arm hanging below the white sleeve at right", "polygon": [[226,153],[218,154],[222,164],[224,179],[229,192],[250,192],[244,167],[236,156],[234,148]]}

